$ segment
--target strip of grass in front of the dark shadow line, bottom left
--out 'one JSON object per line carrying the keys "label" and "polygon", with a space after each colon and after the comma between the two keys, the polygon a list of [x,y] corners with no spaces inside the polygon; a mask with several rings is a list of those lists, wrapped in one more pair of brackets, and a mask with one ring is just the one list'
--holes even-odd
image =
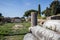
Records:
{"label": "strip of grass in front of the dark shadow line, bottom left", "polygon": [[0,40],[23,40],[24,35],[0,36]]}

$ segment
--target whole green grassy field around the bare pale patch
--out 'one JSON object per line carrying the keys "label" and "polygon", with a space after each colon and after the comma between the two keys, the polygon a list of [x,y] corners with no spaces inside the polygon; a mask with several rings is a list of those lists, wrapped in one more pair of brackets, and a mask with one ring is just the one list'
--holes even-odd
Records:
{"label": "whole green grassy field around the bare pale patch", "polygon": [[[16,24],[23,25],[22,28],[17,30],[13,29],[12,27]],[[25,33],[28,33],[28,28],[30,27],[30,22],[23,22],[23,23],[7,23],[4,25],[0,25],[0,40],[23,40]],[[6,35],[10,36],[6,36]],[[13,34],[19,34],[14,35]]]}

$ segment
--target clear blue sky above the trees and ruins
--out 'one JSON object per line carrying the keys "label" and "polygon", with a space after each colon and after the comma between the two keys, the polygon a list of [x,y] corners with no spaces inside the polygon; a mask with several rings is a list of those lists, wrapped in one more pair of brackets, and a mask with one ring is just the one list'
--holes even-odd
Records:
{"label": "clear blue sky above the trees and ruins", "polygon": [[53,0],[0,0],[0,13],[5,17],[22,17],[24,12],[30,9],[38,9],[41,5],[41,11],[49,7]]}

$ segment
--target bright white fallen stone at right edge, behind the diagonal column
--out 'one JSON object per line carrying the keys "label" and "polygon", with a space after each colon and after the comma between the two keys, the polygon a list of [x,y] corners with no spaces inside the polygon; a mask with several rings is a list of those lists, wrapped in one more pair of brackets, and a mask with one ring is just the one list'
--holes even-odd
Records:
{"label": "bright white fallen stone at right edge, behind the diagonal column", "polygon": [[44,22],[43,27],[60,33],[60,20],[47,20]]}

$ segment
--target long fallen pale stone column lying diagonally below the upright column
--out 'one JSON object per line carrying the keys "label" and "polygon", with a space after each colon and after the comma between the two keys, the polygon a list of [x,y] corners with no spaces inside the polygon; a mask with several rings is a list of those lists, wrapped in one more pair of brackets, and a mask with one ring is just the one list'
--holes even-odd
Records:
{"label": "long fallen pale stone column lying diagonally below the upright column", "polygon": [[39,40],[60,40],[60,34],[40,26],[31,27],[32,34]]}

